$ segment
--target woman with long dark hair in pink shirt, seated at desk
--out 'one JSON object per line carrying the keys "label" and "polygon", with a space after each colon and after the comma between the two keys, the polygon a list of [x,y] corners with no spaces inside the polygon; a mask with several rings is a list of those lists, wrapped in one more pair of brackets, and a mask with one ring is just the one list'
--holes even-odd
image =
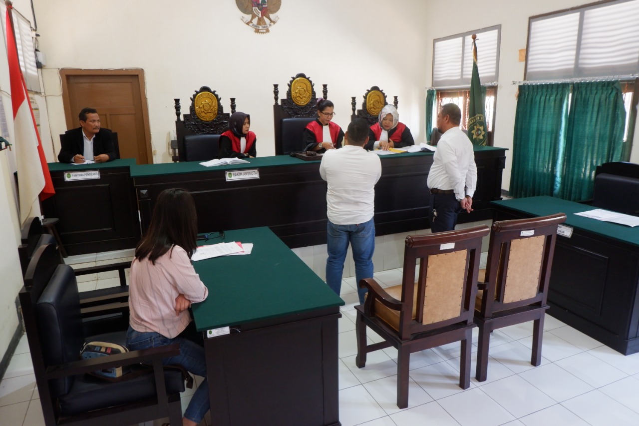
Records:
{"label": "woman with long dark hair in pink shirt, seated at desk", "polygon": [[[195,339],[187,338],[197,336],[189,306],[208,295],[190,261],[196,239],[197,216],[192,196],[182,189],[162,191],[131,264],[127,347],[135,351],[178,343],[180,355],[166,358],[163,363],[179,364],[206,377],[204,348]],[[205,378],[189,402],[183,426],[199,424],[209,408]]]}

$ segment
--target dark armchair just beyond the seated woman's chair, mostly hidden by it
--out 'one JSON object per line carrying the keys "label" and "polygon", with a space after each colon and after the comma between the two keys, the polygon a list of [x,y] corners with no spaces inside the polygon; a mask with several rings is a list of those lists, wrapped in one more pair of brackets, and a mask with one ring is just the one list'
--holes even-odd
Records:
{"label": "dark armchair just beyond the seated woman's chair, mostly hidden by it", "polygon": [[[38,281],[50,280],[58,265],[63,264],[55,244],[36,248],[24,274],[24,287],[31,288]],[[82,324],[87,335],[106,331],[126,330],[128,327],[128,285],[125,269],[130,262],[75,269],[75,276],[118,271],[120,285],[80,293]]]}

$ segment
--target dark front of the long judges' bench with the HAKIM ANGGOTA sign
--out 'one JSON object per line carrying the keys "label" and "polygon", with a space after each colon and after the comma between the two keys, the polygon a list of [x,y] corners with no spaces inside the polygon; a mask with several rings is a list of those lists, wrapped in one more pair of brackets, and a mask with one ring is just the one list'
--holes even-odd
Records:
{"label": "dark front of the long judges' bench with the HAKIM ANGGOTA sign", "polygon": [[[489,202],[500,200],[503,148],[475,148],[477,192],[472,214],[459,222],[489,219]],[[376,235],[428,228],[430,194],[426,180],[431,152],[381,158],[375,189]],[[226,170],[258,168],[259,179],[226,182]],[[194,163],[135,166],[132,171],[142,230],[151,219],[160,192],[182,187],[196,200],[198,232],[269,226],[289,248],[326,243],[326,182],[319,161],[289,156],[250,159],[250,164],[204,168]],[[213,228],[212,228],[213,226]]]}

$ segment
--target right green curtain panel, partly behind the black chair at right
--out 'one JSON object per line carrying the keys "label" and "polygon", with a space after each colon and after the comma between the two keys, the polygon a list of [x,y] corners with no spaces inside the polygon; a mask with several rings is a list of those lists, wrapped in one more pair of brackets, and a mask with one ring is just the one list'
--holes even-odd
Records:
{"label": "right green curtain panel, partly behind the black chair at right", "polygon": [[559,196],[592,198],[595,168],[621,161],[626,109],[619,81],[574,83]]}

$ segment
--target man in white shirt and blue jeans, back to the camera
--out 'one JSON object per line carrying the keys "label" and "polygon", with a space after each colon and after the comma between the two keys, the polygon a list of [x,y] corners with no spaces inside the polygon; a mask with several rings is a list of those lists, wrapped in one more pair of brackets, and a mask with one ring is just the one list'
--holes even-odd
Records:
{"label": "man in white shirt and blue jeans, back to the camera", "polygon": [[[324,153],[319,174],[328,183],[326,283],[339,296],[348,244],[353,249],[355,278],[373,278],[375,249],[375,184],[380,180],[380,157],[364,149],[369,124],[356,118],[348,125],[345,145]],[[364,303],[366,288],[357,290]]]}

